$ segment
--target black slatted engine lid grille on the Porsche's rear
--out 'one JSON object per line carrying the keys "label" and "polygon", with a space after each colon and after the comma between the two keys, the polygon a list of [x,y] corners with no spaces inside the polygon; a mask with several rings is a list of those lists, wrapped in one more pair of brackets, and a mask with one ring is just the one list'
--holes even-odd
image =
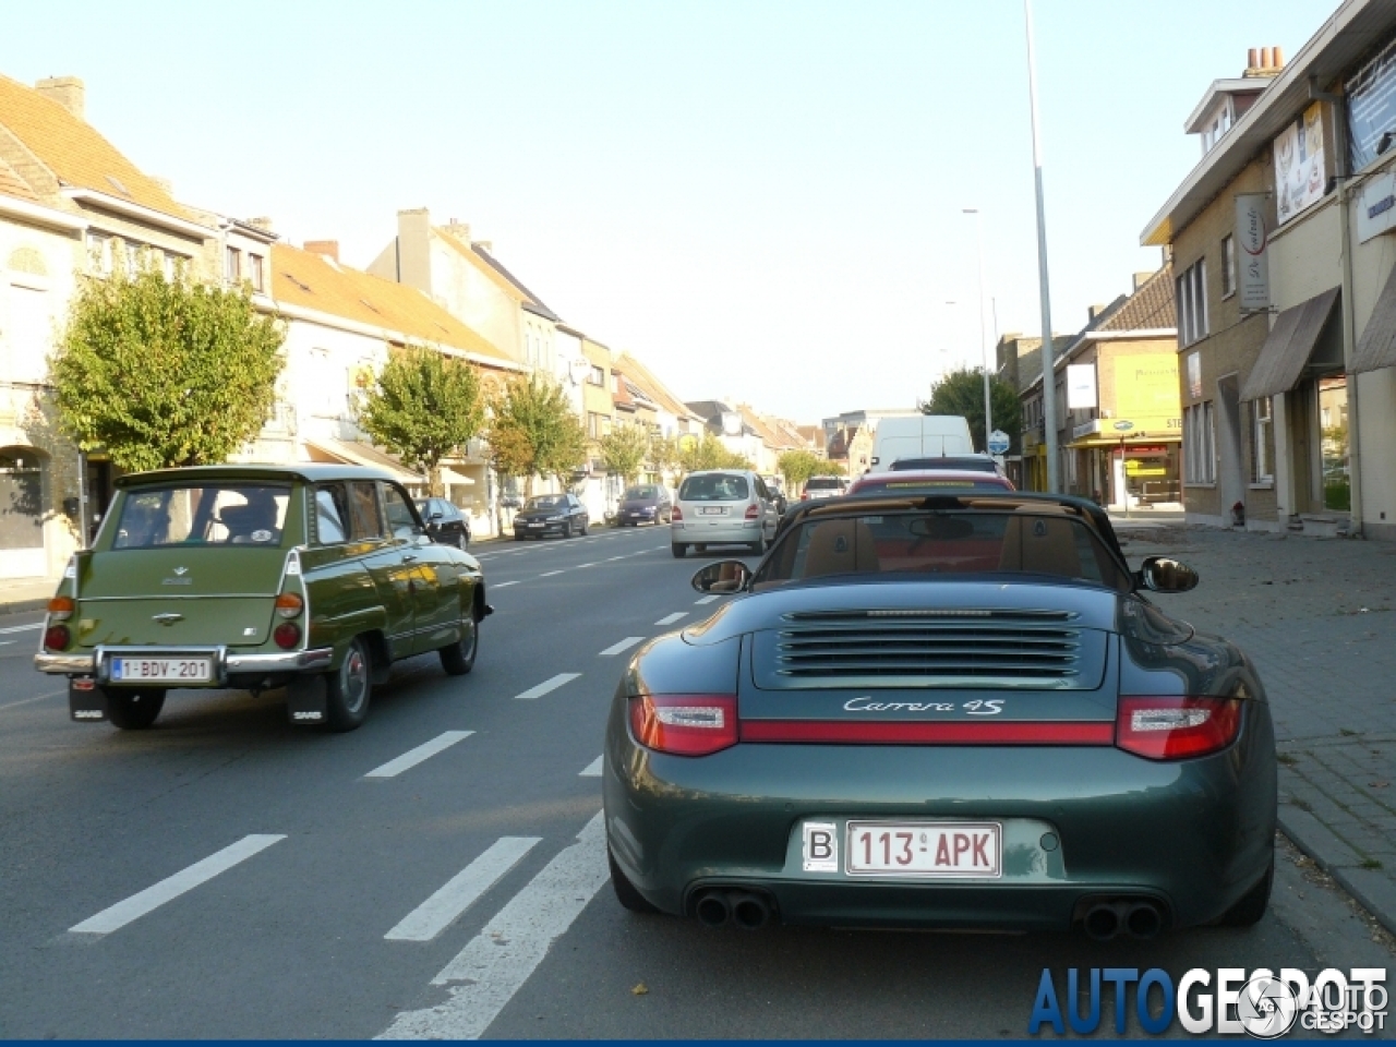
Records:
{"label": "black slatted engine lid grille on the Porsche's rear", "polygon": [[801,687],[1092,690],[1104,638],[1051,610],[860,610],[787,614],[758,634],[757,683]]}

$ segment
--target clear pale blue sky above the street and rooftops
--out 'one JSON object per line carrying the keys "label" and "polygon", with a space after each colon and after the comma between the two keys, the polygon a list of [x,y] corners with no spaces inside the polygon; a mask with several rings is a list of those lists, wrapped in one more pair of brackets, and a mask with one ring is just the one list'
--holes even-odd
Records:
{"label": "clear pale blue sky above the street and rooftops", "polygon": [[[1182,123],[1248,47],[1336,0],[1036,0],[1053,325],[1160,264]],[[6,6],[0,73],[78,75],[180,200],[338,239],[469,222],[570,324],[684,399],[801,422],[910,408],[980,359],[973,219],[1002,331],[1036,332],[1022,0]],[[956,304],[949,306],[948,302]]]}

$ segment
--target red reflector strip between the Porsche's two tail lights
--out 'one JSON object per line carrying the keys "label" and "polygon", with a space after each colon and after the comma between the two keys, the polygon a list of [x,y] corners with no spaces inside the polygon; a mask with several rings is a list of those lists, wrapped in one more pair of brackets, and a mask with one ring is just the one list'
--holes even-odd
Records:
{"label": "red reflector strip between the Porsche's two tail lights", "polygon": [[1113,722],[743,720],[743,741],[863,745],[1113,745]]}

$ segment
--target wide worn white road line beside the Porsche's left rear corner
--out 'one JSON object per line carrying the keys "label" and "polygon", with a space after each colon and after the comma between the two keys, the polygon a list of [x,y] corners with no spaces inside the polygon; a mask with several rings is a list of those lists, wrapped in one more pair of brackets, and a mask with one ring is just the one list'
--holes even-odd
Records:
{"label": "wide worn white road line beside the Porsche's left rear corner", "polygon": [[610,878],[597,812],[441,973],[444,1004],[403,1011],[380,1040],[477,1040]]}

